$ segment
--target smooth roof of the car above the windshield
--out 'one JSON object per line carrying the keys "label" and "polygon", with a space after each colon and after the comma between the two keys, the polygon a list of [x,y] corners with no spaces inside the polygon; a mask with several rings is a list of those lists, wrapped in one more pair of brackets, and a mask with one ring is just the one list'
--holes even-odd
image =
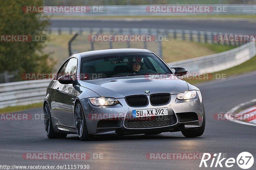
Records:
{"label": "smooth roof of the car above the windshield", "polygon": [[78,53],[81,58],[91,57],[97,55],[108,55],[108,54],[124,54],[124,53],[153,53],[148,49],[139,49],[139,48],[117,48],[117,49],[103,49],[95,51],[87,51],[83,53]]}

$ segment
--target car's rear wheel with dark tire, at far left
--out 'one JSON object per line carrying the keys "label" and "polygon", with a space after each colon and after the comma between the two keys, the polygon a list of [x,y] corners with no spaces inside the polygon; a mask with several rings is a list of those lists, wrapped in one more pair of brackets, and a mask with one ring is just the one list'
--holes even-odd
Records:
{"label": "car's rear wheel with dark tire, at far left", "polygon": [[66,133],[57,133],[54,131],[52,126],[51,111],[47,103],[44,105],[44,128],[49,139],[67,137]]}

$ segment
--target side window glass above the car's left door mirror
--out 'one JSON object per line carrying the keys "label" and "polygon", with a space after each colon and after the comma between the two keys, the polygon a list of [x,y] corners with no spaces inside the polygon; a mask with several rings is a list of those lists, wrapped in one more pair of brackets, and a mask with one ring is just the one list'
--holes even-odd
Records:
{"label": "side window glass above the car's left door mirror", "polygon": [[76,68],[77,68],[76,58],[69,59],[66,63],[64,63],[61,66],[60,71],[58,72],[56,79],[60,78],[63,75],[76,74]]}

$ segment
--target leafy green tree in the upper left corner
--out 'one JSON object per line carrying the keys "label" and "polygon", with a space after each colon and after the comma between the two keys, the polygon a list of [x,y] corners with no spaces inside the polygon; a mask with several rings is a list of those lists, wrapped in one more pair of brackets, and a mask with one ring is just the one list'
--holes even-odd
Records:
{"label": "leafy green tree in the upper left corner", "polygon": [[[0,35],[42,36],[49,26],[43,13],[26,13],[24,6],[41,6],[42,0],[0,0]],[[44,54],[44,41],[0,42],[0,72],[51,73],[55,61]],[[20,76],[19,76],[20,77]]]}

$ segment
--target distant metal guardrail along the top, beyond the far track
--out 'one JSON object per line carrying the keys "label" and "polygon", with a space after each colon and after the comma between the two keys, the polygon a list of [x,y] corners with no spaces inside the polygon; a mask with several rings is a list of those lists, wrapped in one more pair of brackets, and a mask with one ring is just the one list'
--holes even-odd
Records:
{"label": "distant metal guardrail along the top, beyond the far track", "polygon": [[[102,6],[102,5],[101,5]],[[210,12],[148,12],[149,6],[209,6]],[[50,16],[168,16],[168,15],[241,15],[256,14],[256,5],[237,4],[164,4],[164,5],[105,5],[102,12],[93,12],[89,6],[88,12],[53,12],[45,13]],[[224,7],[224,8],[223,8]],[[224,12],[223,12],[224,10]],[[218,11],[218,12],[217,12]]]}

